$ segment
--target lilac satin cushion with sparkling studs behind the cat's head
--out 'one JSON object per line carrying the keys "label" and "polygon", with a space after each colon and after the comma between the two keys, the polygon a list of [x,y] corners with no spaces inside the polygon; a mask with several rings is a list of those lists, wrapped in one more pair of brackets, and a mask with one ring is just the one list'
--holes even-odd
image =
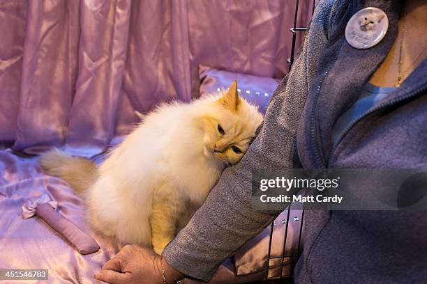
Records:
{"label": "lilac satin cushion with sparkling studs behind the cat's head", "polygon": [[237,80],[239,95],[260,108],[262,114],[267,110],[271,95],[280,83],[279,79],[250,74],[218,70],[199,65],[200,96],[226,90],[232,81]]}

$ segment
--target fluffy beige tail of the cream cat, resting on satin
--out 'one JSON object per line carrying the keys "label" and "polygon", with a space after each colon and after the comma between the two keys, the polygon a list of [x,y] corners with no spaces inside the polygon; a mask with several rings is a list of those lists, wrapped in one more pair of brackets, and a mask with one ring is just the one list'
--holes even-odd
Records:
{"label": "fluffy beige tail of the cream cat, resting on satin", "polygon": [[68,182],[78,193],[83,193],[97,178],[97,168],[93,161],[83,157],[73,157],[54,149],[45,152],[38,163],[47,175],[53,175]]}

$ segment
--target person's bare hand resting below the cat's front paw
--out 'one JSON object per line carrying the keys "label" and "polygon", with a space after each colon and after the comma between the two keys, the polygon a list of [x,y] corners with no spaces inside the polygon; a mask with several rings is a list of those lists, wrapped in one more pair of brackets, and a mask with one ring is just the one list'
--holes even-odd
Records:
{"label": "person's bare hand resting below the cat's front paw", "polygon": [[163,284],[162,265],[168,283],[183,278],[183,274],[170,267],[151,248],[128,245],[105,262],[95,278],[110,284]]}

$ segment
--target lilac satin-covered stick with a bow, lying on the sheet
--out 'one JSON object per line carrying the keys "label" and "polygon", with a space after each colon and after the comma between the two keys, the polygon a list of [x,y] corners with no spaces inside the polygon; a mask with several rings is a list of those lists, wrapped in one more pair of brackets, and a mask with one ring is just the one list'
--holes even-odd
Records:
{"label": "lilac satin-covered stick with a bow, lying on the sheet", "polygon": [[33,196],[22,205],[22,218],[29,219],[31,216],[37,215],[77,248],[79,253],[89,254],[99,251],[100,247],[96,241],[75,226],[73,222],[59,214],[57,207],[57,201],[50,200],[46,194]]}

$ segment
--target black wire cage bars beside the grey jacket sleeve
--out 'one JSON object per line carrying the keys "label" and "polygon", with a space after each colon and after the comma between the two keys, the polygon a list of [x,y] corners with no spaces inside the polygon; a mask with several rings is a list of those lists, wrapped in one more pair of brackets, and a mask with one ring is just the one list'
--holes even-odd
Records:
{"label": "black wire cage bars beside the grey jacket sleeve", "polygon": [[[312,15],[315,11],[315,5],[316,1],[313,1],[313,8],[312,8]],[[289,64],[289,70],[292,68],[292,63],[294,63],[294,56],[295,56],[295,45],[297,42],[297,33],[301,31],[306,31],[306,27],[298,27],[298,8],[299,8],[299,0],[295,1],[295,11],[294,11],[294,24],[292,28],[290,28],[290,32],[292,33],[292,47],[290,52],[290,58],[287,58],[287,63]],[[269,248],[267,252],[267,269],[264,274],[264,281],[271,281],[271,280],[278,280],[280,279],[280,283],[293,283],[293,274],[294,274],[294,268],[297,264],[297,260],[299,256],[302,253],[302,247],[301,247],[301,237],[303,234],[303,228],[304,228],[304,205],[301,205],[301,213],[299,216],[301,216],[301,220],[299,220],[299,217],[292,217],[292,205],[287,209],[286,218],[281,220],[282,223],[285,224],[285,233],[283,237],[283,250],[280,256],[271,256],[271,246],[272,246],[272,240],[274,237],[274,222],[270,225],[270,234],[269,234]],[[298,232],[298,242],[297,242],[297,249],[296,251],[293,250],[287,250],[287,238],[288,238],[288,229],[289,224],[292,221],[299,221],[299,232]],[[287,253],[289,252],[289,253]],[[274,265],[277,263],[277,260],[280,260],[280,265]],[[285,261],[286,260],[286,261]],[[273,265],[271,265],[273,263]],[[271,273],[274,271],[274,273]],[[278,271],[278,273],[277,273]],[[285,273],[284,273],[285,271]]]}

